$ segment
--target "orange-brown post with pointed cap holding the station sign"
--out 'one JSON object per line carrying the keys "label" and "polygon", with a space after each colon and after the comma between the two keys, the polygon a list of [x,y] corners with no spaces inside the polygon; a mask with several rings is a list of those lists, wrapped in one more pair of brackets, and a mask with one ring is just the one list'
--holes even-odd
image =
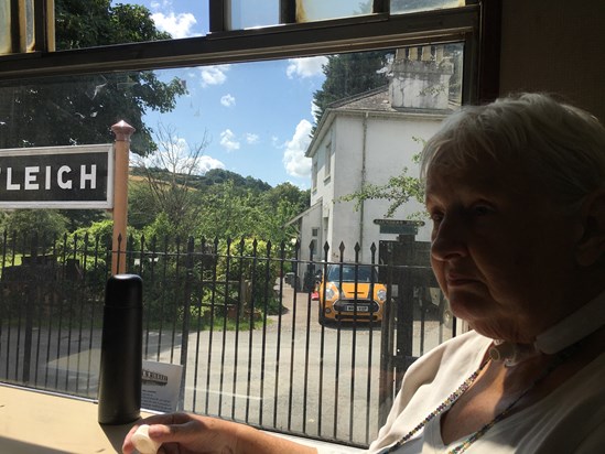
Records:
{"label": "orange-brown post with pointed cap holding the station sign", "polygon": [[125,241],[126,249],[126,226],[128,213],[128,154],[130,151],[130,137],[134,128],[121,120],[111,127],[116,134],[116,144],[114,147],[114,237],[111,244],[111,274],[126,272],[126,255],[120,260],[119,237]]}

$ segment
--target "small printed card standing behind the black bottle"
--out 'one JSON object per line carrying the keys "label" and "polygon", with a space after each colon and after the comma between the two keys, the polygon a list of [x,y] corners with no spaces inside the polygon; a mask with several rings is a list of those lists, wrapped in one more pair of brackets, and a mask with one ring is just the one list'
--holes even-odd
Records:
{"label": "small printed card standing behind the black bottle", "polygon": [[143,360],[141,407],[153,411],[176,411],[182,372],[180,365]]}

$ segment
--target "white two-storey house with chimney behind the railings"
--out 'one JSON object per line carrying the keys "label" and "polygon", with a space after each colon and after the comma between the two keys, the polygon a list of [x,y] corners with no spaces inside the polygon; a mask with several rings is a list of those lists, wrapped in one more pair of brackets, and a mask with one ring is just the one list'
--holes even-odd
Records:
{"label": "white two-storey house with chimney behind the railings", "polygon": [[[398,52],[388,87],[341,100],[325,110],[306,151],[312,159],[311,207],[295,219],[300,223],[301,259],[310,259],[313,242],[313,260],[325,258],[327,244],[328,261],[341,260],[344,245],[345,261],[357,258],[370,262],[372,244],[378,253],[380,240],[397,238],[398,234],[381,234],[376,223],[385,218],[389,201],[365,201],[356,210],[355,202],[341,197],[366,183],[383,185],[404,169],[418,177],[413,156],[421,151],[422,140],[429,139],[451,112],[449,82],[453,68],[439,50],[428,46],[423,51],[424,58],[422,54],[418,58],[413,50]],[[392,219],[409,220],[420,213],[422,204],[410,201]],[[399,227],[399,233],[429,240],[429,226],[417,224]]]}

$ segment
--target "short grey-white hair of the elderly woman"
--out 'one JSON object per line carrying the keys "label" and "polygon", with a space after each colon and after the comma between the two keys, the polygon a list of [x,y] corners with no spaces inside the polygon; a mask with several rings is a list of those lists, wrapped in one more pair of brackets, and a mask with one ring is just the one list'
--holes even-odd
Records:
{"label": "short grey-white hair of the elderly woman", "polygon": [[605,186],[605,128],[588,112],[547,95],[463,107],[426,142],[421,177],[445,156],[447,165],[463,166],[486,154],[497,162],[514,160],[565,204]]}

